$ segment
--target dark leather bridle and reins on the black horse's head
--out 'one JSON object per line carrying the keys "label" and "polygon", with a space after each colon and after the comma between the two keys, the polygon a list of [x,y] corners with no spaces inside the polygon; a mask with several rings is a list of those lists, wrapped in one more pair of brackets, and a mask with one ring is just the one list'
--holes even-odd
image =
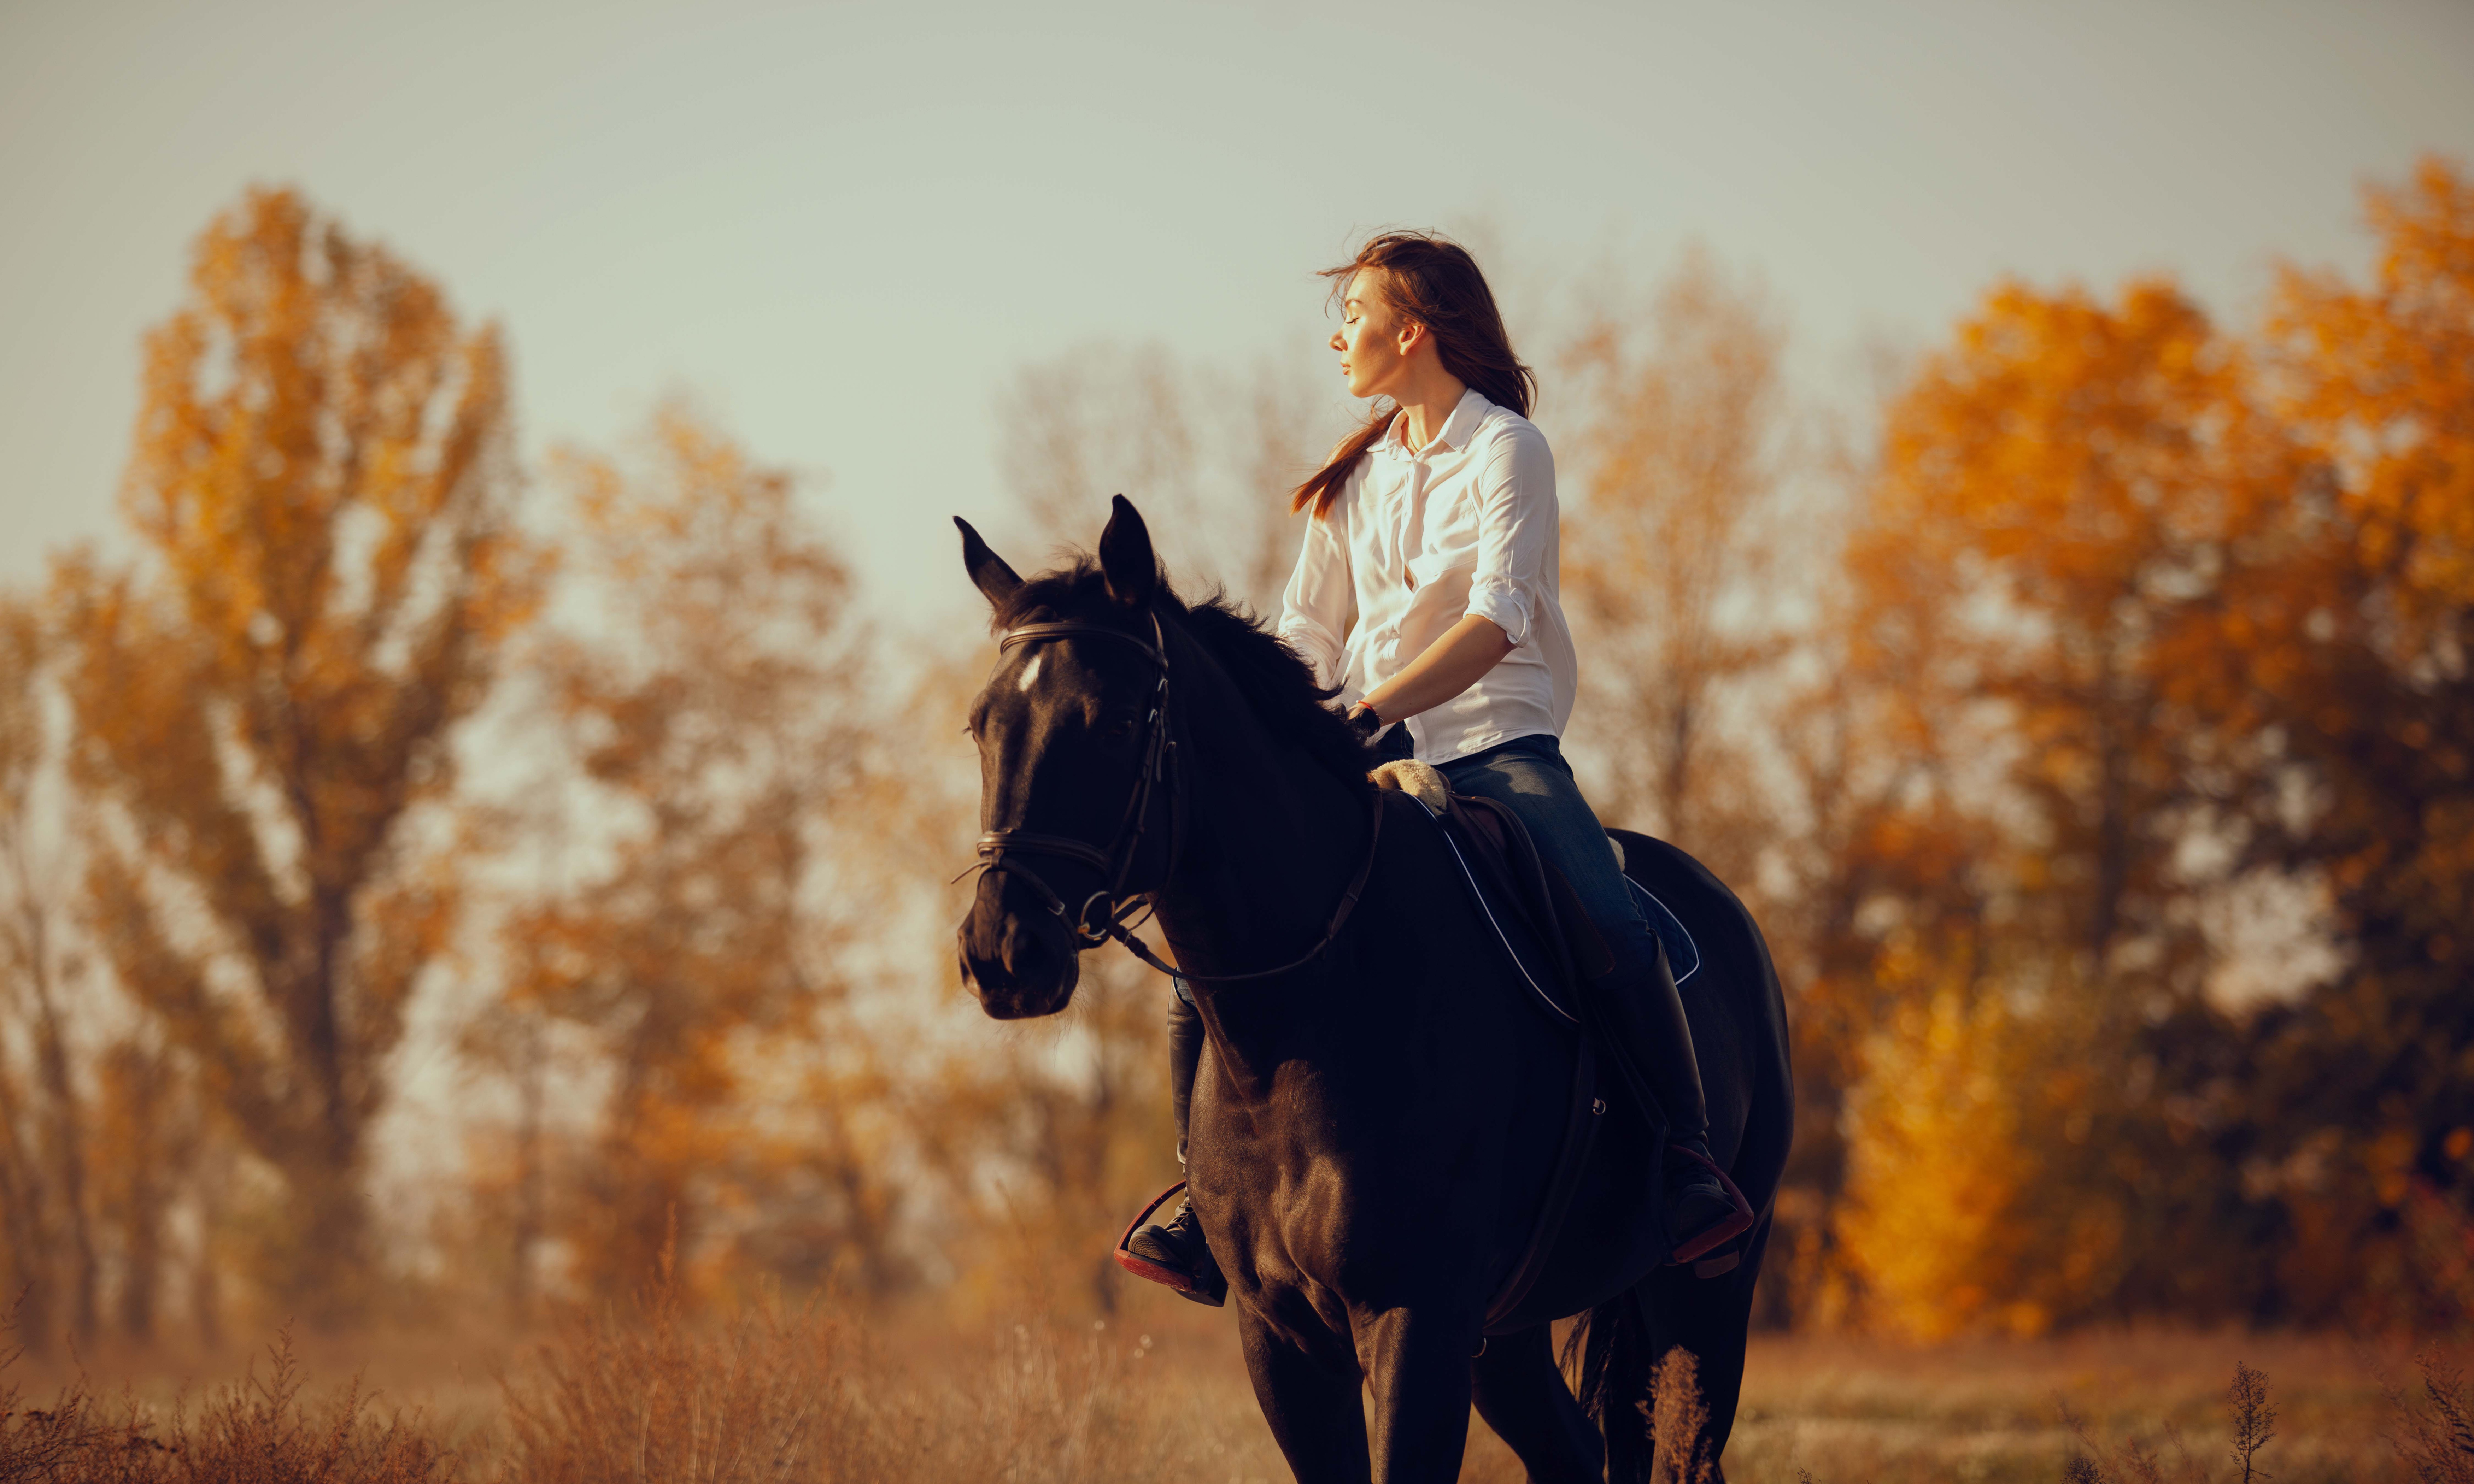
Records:
{"label": "dark leather bridle and reins on the black horse's head", "polygon": [[[1022,628],[1009,628],[997,643],[997,653],[1004,653],[1022,643],[1039,643],[1047,638],[1113,638],[1116,643],[1133,646],[1153,668],[1160,673],[1158,688],[1150,693],[1150,715],[1143,717],[1143,772],[1133,779],[1133,791],[1126,796],[1126,814],[1116,821],[1116,834],[1106,846],[1091,846],[1074,836],[1051,836],[1027,829],[992,829],[980,836],[980,863],[970,871],[1002,871],[1034,893],[1066,925],[1076,952],[1086,947],[1101,947],[1111,937],[1123,942],[1133,957],[1143,960],[1163,974],[1183,977],[1192,984],[1227,984],[1239,979],[1267,979],[1272,974],[1286,974],[1299,970],[1331,947],[1331,940],[1341,935],[1341,925],[1348,923],[1348,913],[1356,910],[1358,895],[1366,890],[1366,878],[1376,866],[1376,846],[1383,841],[1383,796],[1376,794],[1376,819],[1373,831],[1366,838],[1366,861],[1358,863],[1356,878],[1348,883],[1348,893],[1341,895],[1338,910],[1331,915],[1331,925],[1304,955],[1279,965],[1277,970],[1254,970],[1249,974],[1197,974],[1178,965],[1160,962],[1150,947],[1133,935],[1143,925],[1143,915],[1150,913],[1158,888],[1128,893],[1126,878],[1133,873],[1133,858],[1143,846],[1143,831],[1150,826],[1150,804],[1160,794],[1163,784],[1168,789],[1168,863],[1160,868],[1160,881],[1165,883],[1178,871],[1178,858],[1185,851],[1185,769],[1175,767],[1178,742],[1170,735],[1173,722],[1168,715],[1168,636],[1160,628],[1160,616],[1150,613],[1150,643],[1123,628],[1108,628],[1106,623],[1024,623]],[[1081,861],[1101,873],[1101,885],[1084,898],[1081,908],[1069,910],[1066,900],[1037,868],[1014,856],[1064,856],[1069,861]],[[970,876],[965,871],[962,876]],[[1098,908],[1094,913],[1094,908]]]}

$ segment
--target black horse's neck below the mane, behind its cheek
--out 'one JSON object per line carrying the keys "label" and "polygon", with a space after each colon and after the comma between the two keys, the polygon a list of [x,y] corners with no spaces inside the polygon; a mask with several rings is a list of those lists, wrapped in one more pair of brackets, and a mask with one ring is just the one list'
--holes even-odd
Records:
{"label": "black horse's neck below the mane, behind its cheek", "polygon": [[[1158,920],[1178,965],[1197,974],[1247,974],[1304,955],[1324,935],[1371,843],[1366,796],[1304,749],[1279,740],[1190,636],[1178,636],[1185,846],[1158,893]],[[1192,655],[1192,658],[1188,658]],[[1277,1024],[1249,1007],[1284,1002],[1294,974],[1215,987],[1192,982],[1197,1007],[1232,1064],[1259,1064]],[[1232,1066],[1232,1071],[1237,1068]],[[1239,1078],[1244,1081],[1244,1078]]]}

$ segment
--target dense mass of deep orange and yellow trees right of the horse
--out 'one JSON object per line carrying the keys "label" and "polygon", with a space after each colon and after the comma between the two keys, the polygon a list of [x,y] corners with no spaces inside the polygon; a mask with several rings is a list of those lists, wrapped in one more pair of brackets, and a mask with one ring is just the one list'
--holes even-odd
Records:
{"label": "dense mass of deep orange and yellow trees right of the horse", "polygon": [[[2378,287],[2288,275],[2259,349],[2162,282],[2006,284],[1890,413],[1848,715],[1947,759],[1982,927],[1858,1068],[1838,1237],[1898,1328],[2434,1301],[2402,1254],[2474,1123],[2474,190],[2429,163],[2373,215]],[[2328,881],[2355,962],[2241,1019],[2194,903],[2256,871]],[[1836,878],[1888,881],[1836,984],[1880,992],[1942,893]]]}

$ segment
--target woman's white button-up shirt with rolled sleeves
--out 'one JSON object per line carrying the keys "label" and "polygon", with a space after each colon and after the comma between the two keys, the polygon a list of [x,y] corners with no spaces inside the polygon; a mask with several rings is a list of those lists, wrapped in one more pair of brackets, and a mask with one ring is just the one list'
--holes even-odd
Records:
{"label": "woman's white button-up shirt with rolled sleeves", "polygon": [[1457,697],[1410,717],[1418,762],[1514,737],[1561,737],[1578,663],[1561,603],[1554,453],[1536,423],[1475,388],[1420,450],[1408,413],[1306,519],[1279,603],[1279,636],[1356,705],[1465,613],[1492,618],[1512,653]]}

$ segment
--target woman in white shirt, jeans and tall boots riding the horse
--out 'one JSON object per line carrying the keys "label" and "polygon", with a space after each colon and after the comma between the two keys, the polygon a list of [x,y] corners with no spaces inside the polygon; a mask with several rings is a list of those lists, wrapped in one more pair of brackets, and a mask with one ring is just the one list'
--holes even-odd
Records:
{"label": "woman in white shirt, jeans and tall boots riding the horse", "polygon": [[[1672,1261],[1692,1261],[1752,1214],[1714,1177],[1667,952],[1556,744],[1578,665],[1559,603],[1554,455],[1526,416],[1536,378],[1457,242],[1383,235],[1324,277],[1341,297],[1331,349],[1348,396],[1380,401],[1291,500],[1311,517],[1279,636],[1338,690],[1376,757],[1415,757],[1452,791],[1512,806],[1576,888],[1616,957],[1598,992],[1643,1007],[1658,1029],[1643,1071],[1687,1155],[1663,1167]],[[1180,982],[1168,1009],[1180,1165],[1202,1041]],[[1190,1200],[1126,1247],[1128,1269],[1200,1303],[1225,1301]]]}

